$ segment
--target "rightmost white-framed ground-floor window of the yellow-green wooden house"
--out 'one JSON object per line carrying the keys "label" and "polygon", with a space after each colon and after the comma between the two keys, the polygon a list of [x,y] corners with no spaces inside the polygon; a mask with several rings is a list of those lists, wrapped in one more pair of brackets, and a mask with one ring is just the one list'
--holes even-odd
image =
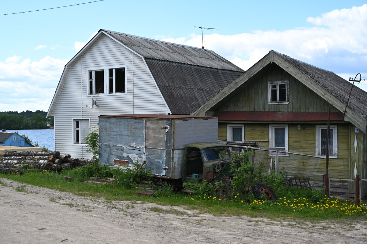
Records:
{"label": "rightmost white-framed ground-floor window of the yellow-green wooden house", "polygon": [[[316,125],[316,155],[326,157],[327,125]],[[329,157],[338,157],[338,126],[330,125]]]}

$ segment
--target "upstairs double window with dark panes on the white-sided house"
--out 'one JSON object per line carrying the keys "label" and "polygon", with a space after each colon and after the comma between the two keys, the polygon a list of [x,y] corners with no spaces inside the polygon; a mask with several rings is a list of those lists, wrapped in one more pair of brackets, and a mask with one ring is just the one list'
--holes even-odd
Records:
{"label": "upstairs double window with dark panes on the white-sided house", "polygon": [[88,95],[126,93],[126,66],[87,70]]}

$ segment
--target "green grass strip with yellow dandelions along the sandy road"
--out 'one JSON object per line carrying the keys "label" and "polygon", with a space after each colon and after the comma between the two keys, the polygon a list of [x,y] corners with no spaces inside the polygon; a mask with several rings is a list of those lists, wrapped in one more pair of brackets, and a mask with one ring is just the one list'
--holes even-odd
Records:
{"label": "green grass strip with yellow dandelions along the sandy road", "polygon": [[[14,181],[37,185],[39,187],[55,189],[63,192],[70,192],[75,195],[83,196],[93,201],[109,202],[115,200],[128,200],[134,204],[139,202],[157,203],[162,206],[184,206],[187,210],[195,210],[196,213],[210,213],[214,216],[234,215],[239,218],[241,216],[249,216],[251,218],[268,218],[273,221],[289,221],[292,222],[310,222],[317,223],[323,219],[335,219],[338,221],[352,219],[354,221],[366,221],[366,208],[356,206],[352,202],[339,202],[338,199],[323,197],[319,202],[311,202],[306,198],[287,199],[278,196],[277,202],[268,202],[264,200],[250,200],[246,202],[240,197],[233,201],[224,201],[210,195],[187,195],[182,192],[174,194],[160,194],[158,197],[137,196],[139,191],[137,188],[126,189],[116,184],[105,185],[85,185],[83,181],[75,180],[65,181],[63,178],[70,175],[70,171],[62,173],[54,172],[27,172],[24,174],[0,174]],[[121,179],[122,180],[122,179]],[[6,185],[0,181],[1,185]],[[138,183],[139,184],[139,183]],[[17,191],[33,194],[37,192],[28,192],[25,186],[16,188]],[[99,199],[103,198],[103,199]],[[65,199],[61,197],[49,198],[51,202],[57,199]],[[65,203],[73,207],[73,203]],[[134,205],[127,204],[126,208],[132,208]],[[175,209],[165,210],[159,207],[149,208],[150,211],[156,211],[161,214],[176,214],[193,216],[185,211]],[[84,211],[84,210],[81,210]],[[85,210],[91,211],[91,210]],[[250,222],[250,221],[249,221]]]}

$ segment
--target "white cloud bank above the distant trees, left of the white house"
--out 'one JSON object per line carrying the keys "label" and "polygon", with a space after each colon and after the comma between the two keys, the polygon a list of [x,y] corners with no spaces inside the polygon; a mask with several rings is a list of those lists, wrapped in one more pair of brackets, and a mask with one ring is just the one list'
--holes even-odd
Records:
{"label": "white cloud bank above the distant trees, left of the white house", "polygon": [[0,111],[47,110],[68,60],[39,61],[18,56],[0,61]]}

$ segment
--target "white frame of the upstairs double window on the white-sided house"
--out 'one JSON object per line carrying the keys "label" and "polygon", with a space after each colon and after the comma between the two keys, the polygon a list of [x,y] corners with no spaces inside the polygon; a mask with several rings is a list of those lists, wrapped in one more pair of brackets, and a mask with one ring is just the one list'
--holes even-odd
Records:
{"label": "white frame of the upstairs double window on the white-sided house", "polygon": [[[115,83],[115,70],[118,68],[123,68],[125,77],[124,77],[124,90],[123,92],[115,92],[116,83]],[[109,70],[113,69],[113,93],[109,93]],[[95,93],[95,71],[103,70],[103,93]],[[92,78],[90,78],[90,72],[92,72]],[[113,66],[105,66],[105,67],[90,67],[86,69],[86,81],[87,81],[87,96],[95,96],[95,95],[120,95],[127,94],[127,65],[113,65]],[[90,82],[92,82],[92,92],[90,92]]]}

